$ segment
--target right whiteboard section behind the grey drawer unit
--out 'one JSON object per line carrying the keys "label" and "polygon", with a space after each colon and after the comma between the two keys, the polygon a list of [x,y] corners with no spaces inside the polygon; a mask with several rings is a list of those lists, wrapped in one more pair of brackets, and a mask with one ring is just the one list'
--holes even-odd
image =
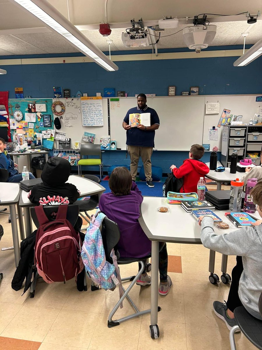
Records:
{"label": "right whiteboard section behind the grey drawer unit", "polygon": [[261,105],[261,102],[256,102],[256,96],[257,94],[205,96],[205,103],[219,102],[220,106],[219,114],[205,114],[204,116],[203,144],[210,144],[210,150],[212,150],[214,146],[217,146],[219,151],[221,151],[223,126],[218,128],[218,141],[208,141],[208,128],[212,128],[212,126],[217,127],[224,109],[230,110],[230,114],[243,116],[242,119],[240,119],[243,121],[243,124],[249,123],[250,118],[254,119],[253,117],[257,112],[257,107]]}

